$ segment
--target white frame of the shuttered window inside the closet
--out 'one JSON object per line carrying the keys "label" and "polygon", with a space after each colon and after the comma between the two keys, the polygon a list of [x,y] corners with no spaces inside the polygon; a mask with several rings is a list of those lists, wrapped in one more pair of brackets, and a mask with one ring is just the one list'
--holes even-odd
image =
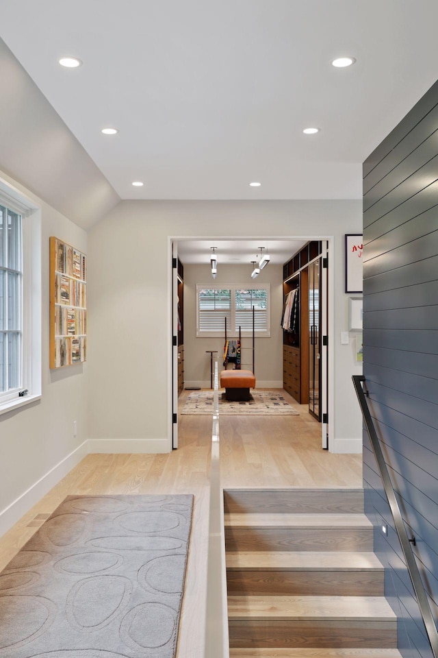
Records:
{"label": "white frame of the shuttered window inside the closet", "polygon": [[[222,319],[222,328],[218,327],[216,330],[211,330],[211,331],[201,331],[199,326],[200,326],[200,318],[199,318],[199,291],[200,290],[230,290],[231,291],[231,326],[227,326],[227,338],[236,338],[239,336],[239,328],[235,328],[235,291],[236,290],[266,290],[266,300],[267,300],[267,308],[266,308],[266,330],[255,330],[255,337],[256,338],[270,338],[271,331],[270,331],[270,316],[271,316],[271,287],[270,284],[258,284],[258,283],[250,283],[249,285],[246,283],[242,284],[196,284],[196,337],[197,338],[224,338],[224,332],[225,332],[225,327],[224,327],[224,321]],[[225,314],[224,314],[225,315]],[[253,330],[251,329],[250,331],[244,331],[242,330],[241,336],[242,338],[249,338],[252,337],[253,335]]]}

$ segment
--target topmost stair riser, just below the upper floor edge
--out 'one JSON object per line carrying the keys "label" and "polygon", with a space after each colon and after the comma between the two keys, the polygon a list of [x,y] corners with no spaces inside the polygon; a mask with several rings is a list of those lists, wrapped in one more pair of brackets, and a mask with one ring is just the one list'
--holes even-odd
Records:
{"label": "topmost stair riser, just below the upper floor edge", "polygon": [[363,491],[224,491],[225,513],[360,514]]}

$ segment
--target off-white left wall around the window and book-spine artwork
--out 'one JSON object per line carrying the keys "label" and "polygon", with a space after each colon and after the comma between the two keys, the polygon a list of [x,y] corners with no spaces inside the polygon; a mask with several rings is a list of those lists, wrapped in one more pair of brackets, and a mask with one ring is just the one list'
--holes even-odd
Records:
{"label": "off-white left wall around the window and book-spine artwork", "polygon": [[[49,236],[55,235],[85,253],[88,241],[85,231],[51,206],[3,172],[0,177],[41,208],[42,221],[42,398],[19,411],[0,415],[1,534],[85,454],[80,446],[87,438],[87,364],[49,369]],[[62,465],[49,474],[60,462]]]}

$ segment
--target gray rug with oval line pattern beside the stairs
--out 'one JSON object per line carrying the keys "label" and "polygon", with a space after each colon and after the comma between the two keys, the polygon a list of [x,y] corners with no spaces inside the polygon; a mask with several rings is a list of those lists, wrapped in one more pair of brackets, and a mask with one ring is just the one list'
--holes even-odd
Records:
{"label": "gray rug with oval line pattern beside the stairs", "polygon": [[192,507],[68,496],[0,574],[0,657],[173,658]]}

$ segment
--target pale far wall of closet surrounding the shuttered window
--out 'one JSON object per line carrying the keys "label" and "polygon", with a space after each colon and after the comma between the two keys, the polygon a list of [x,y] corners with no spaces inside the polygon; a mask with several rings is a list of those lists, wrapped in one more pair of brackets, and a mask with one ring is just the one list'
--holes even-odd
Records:
{"label": "pale far wall of closet surrounding the shuttered window", "polygon": [[[196,338],[196,284],[212,281],[207,254],[206,265],[184,265],[184,381],[188,386],[210,386],[210,355],[205,350],[218,350],[223,369],[224,335]],[[292,256],[292,254],[291,254]],[[219,265],[215,284],[251,282],[251,265]],[[256,284],[270,284],[270,338],[255,339],[255,376],[257,387],[283,388],[283,335],[280,326],[283,307],[283,267],[268,265]],[[253,369],[253,339],[242,337],[242,369]]]}

